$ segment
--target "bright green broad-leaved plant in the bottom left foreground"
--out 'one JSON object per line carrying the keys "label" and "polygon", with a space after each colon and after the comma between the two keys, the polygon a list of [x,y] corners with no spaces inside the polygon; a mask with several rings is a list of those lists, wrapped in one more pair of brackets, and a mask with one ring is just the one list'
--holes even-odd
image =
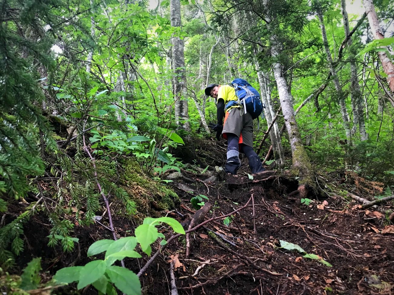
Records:
{"label": "bright green broad-leaved plant in the bottom left foreground", "polygon": [[[141,284],[137,275],[126,268],[112,264],[126,257],[140,258],[141,255],[134,251],[137,242],[140,244],[141,249],[150,255],[150,245],[158,238],[164,239],[164,235],[156,229],[156,225],[159,225],[161,222],[167,223],[175,232],[185,234],[182,225],[173,218],[145,218],[143,224],[136,228],[135,237],[120,238],[117,241],[100,240],[89,247],[87,256],[106,252],[104,260],[93,260],[85,266],[72,266],[60,269],[54,276],[54,280],[59,284],[69,284],[78,281],[78,289],[93,284],[102,294],[113,294],[113,285],[127,295],[141,294]],[[164,243],[161,244],[164,245]]]}

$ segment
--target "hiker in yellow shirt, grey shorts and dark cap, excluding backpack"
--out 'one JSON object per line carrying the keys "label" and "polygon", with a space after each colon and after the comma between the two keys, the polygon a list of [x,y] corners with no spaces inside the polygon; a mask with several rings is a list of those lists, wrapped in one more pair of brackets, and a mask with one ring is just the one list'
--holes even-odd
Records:
{"label": "hiker in yellow shirt, grey shorts and dark cap, excluding backpack", "polygon": [[[249,160],[252,173],[265,171],[258,155],[253,151],[253,118],[250,112],[244,112],[242,103],[238,103],[235,90],[230,85],[210,84],[205,94],[215,99],[217,107],[217,124],[211,128],[228,141],[225,172],[236,174],[241,167],[240,151]],[[224,117],[224,125],[223,125]]]}

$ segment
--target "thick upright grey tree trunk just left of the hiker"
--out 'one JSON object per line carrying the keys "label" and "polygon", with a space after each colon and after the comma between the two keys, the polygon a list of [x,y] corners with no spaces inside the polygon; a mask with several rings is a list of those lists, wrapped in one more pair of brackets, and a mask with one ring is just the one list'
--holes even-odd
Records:
{"label": "thick upright grey tree trunk just left of the hiker", "polygon": [[[171,26],[180,27],[180,0],[170,1],[170,15]],[[178,36],[174,36],[172,37],[172,44],[175,121],[183,129],[190,131],[183,41]]]}

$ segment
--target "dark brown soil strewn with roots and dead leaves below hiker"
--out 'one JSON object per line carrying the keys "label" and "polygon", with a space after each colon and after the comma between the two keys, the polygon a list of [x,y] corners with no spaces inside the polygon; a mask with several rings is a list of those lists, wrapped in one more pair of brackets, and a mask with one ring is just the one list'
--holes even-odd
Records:
{"label": "dark brown soil strewn with roots and dead leaves below hiker", "polygon": [[[309,205],[300,204],[297,195],[292,194],[297,181],[286,173],[267,171],[252,180],[247,175],[247,159],[243,159],[238,175],[217,173],[214,166],[223,164],[225,148],[201,142],[196,150],[201,167],[211,163],[210,167],[201,174],[188,169],[178,173],[168,185],[179,195],[180,206],[160,215],[184,223],[195,213],[191,197],[202,194],[212,205],[205,220],[232,213],[231,222],[226,226],[223,219],[217,219],[191,233],[189,257],[185,254],[185,236],[169,243],[141,275],[143,294],[170,294],[170,262],[175,267],[173,282],[178,293],[185,295],[394,292],[394,227],[379,210],[361,210],[353,200],[328,193],[320,199],[311,194]],[[324,186],[323,180],[319,183]],[[115,205],[112,208],[117,210]],[[106,224],[105,220],[101,222]],[[36,230],[36,223],[41,231]],[[92,242],[112,238],[112,233],[98,223],[76,227],[78,249],[64,254],[46,247],[47,223],[38,215],[25,232],[33,256],[52,257],[43,265],[50,273],[64,266],[84,265],[89,261],[86,251]],[[137,225],[119,214],[113,214],[113,223],[119,236],[132,235]],[[167,240],[172,235],[164,228],[163,233]],[[280,240],[298,245],[305,252],[286,250],[280,247],[284,245]],[[290,247],[294,247],[292,244]],[[156,242],[152,254],[158,248]],[[305,254],[318,259],[303,257]],[[137,273],[148,259],[146,255],[138,263],[126,259],[126,267]],[[20,257],[19,263],[26,265],[28,261]],[[332,266],[325,265],[327,262]],[[64,292],[67,294],[67,289]],[[96,294],[93,288],[83,293]]]}

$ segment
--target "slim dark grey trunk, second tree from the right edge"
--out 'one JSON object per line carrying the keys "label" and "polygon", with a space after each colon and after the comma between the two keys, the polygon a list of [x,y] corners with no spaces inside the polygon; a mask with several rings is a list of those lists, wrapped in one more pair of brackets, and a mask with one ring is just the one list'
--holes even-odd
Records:
{"label": "slim dark grey trunk, second tree from the right edge", "polygon": [[[350,29],[349,29],[349,18],[348,18],[348,13],[346,12],[346,2],[345,0],[341,0],[342,4],[342,15],[344,19],[344,28],[345,28],[345,38],[346,36],[350,35]],[[357,52],[355,52],[355,48],[351,46],[352,44],[352,39],[351,37],[349,38],[348,45],[350,47],[349,50],[349,55],[350,55],[350,79],[351,79],[351,84],[350,84],[350,97],[351,101],[353,102],[353,117],[355,118],[354,122],[355,124],[359,125],[359,130],[360,130],[360,137],[361,140],[367,140],[368,139],[368,134],[366,133],[365,129],[365,121],[364,121],[364,108],[362,107],[362,102],[361,102],[361,89],[359,85],[359,79],[357,77],[357,66],[355,63],[356,55]],[[357,126],[355,126],[357,127]]]}

